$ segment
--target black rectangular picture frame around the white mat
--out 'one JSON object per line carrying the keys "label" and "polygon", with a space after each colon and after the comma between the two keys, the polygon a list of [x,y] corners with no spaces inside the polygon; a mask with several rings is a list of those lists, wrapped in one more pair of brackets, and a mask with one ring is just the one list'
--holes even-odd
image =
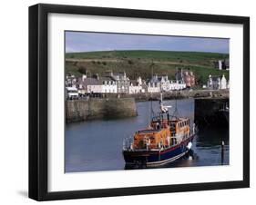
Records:
{"label": "black rectangular picture frame around the white mat", "polygon": [[[101,190],[47,190],[47,16],[50,13],[101,15],[225,23],[243,25],[243,180],[178,185],[156,185]],[[191,190],[250,187],[250,18],[230,15],[199,15],[76,5],[32,5],[29,7],[29,198],[66,200],[153,194]]]}

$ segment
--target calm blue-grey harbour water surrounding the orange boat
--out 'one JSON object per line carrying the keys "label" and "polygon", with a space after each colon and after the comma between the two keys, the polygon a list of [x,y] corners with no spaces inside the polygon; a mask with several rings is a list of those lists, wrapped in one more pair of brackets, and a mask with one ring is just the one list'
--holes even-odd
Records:
{"label": "calm blue-grey harbour water surrounding the orange boat", "polygon": [[[125,169],[122,156],[123,139],[148,126],[150,103],[138,102],[138,116],[90,122],[74,122],[66,125],[65,169],[74,171],[116,171]],[[175,107],[175,101],[166,104]],[[194,120],[194,100],[177,101],[179,116]],[[159,102],[152,102],[157,112]],[[172,112],[170,108],[170,113]],[[200,128],[193,141],[192,151],[179,161],[166,167],[214,166],[221,164],[221,142],[225,142],[223,164],[229,164],[229,129]]]}

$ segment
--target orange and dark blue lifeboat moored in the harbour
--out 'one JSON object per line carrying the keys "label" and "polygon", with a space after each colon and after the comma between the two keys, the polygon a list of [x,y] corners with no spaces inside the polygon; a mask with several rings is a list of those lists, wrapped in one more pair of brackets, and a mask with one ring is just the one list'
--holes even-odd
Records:
{"label": "orange and dark blue lifeboat moored in the harbour", "polygon": [[178,160],[191,149],[195,124],[191,125],[189,118],[170,115],[168,108],[163,105],[161,95],[160,112],[152,117],[148,128],[124,141],[123,156],[127,166],[161,166]]}

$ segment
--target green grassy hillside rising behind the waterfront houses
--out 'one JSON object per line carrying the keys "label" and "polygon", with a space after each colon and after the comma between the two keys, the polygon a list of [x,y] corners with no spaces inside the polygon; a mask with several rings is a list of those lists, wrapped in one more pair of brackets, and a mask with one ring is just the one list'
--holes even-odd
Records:
{"label": "green grassy hillside rising behind the waterfront houses", "polygon": [[229,58],[229,54],[199,53],[199,52],[169,52],[169,51],[108,51],[66,54],[66,72],[81,75],[106,71],[128,73],[130,79],[141,76],[149,79],[151,72],[168,74],[174,79],[177,68],[188,69],[196,74],[200,84],[206,83],[209,74],[225,74],[214,68],[214,62]]}

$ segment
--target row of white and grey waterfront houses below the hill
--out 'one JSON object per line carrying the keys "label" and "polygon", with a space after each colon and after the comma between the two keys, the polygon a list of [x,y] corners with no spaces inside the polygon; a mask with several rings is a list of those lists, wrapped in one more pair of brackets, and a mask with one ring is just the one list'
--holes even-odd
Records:
{"label": "row of white and grey waterfront houses below the hill", "polygon": [[[214,78],[215,79],[215,78]],[[224,85],[224,76],[221,81],[215,83],[214,79],[208,83],[209,89],[226,89]],[[220,78],[218,78],[220,80]],[[221,86],[215,86],[220,84]],[[213,86],[214,85],[214,86]],[[83,74],[76,78],[74,75],[67,74],[66,87],[77,89],[79,94],[87,93],[160,93],[184,90],[195,86],[195,75],[191,71],[183,71],[180,69],[176,73],[175,80],[169,80],[168,75],[154,74],[151,79],[144,80],[141,77],[130,80],[127,73],[107,72],[104,76],[99,76],[97,73],[87,76]],[[70,89],[69,89],[70,90]],[[72,90],[72,89],[71,89]]]}

